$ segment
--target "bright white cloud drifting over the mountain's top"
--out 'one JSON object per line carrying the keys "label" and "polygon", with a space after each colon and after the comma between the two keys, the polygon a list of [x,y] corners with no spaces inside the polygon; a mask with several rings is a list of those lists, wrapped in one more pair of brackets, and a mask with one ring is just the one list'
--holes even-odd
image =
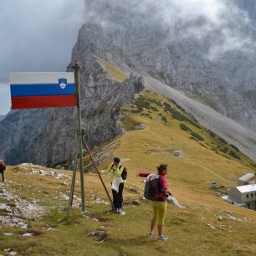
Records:
{"label": "bright white cloud drifting over the mountain's top", "polygon": [[[127,23],[135,20],[145,24],[158,23],[161,28],[168,31],[170,40],[212,38],[212,44],[209,44],[206,53],[208,59],[218,59],[233,50],[249,54],[255,51],[253,39],[248,37],[248,30],[253,28],[248,13],[238,8],[233,0],[130,0],[129,2],[84,0],[84,2],[86,16],[105,27],[110,26],[111,22],[115,23],[116,18],[123,18],[127,19]],[[111,8],[115,10],[112,13]],[[178,34],[175,33],[177,30],[179,30]]]}

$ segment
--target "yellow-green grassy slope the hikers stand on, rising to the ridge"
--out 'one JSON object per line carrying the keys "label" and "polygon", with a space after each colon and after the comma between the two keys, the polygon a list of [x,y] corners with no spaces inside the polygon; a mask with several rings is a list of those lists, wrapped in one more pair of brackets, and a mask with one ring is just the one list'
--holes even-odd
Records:
{"label": "yellow-green grassy slope the hikers stand on, rising to the ridge", "polygon": [[[164,102],[167,104],[165,109],[162,107]],[[172,111],[168,105],[173,107]],[[181,119],[181,115],[173,110],[184,115],[186,120],[174,119],[173,113],[178,119]],[[64,218],[65,211],[61,207],[65,207],[67,202],[54,198],[59,192],[68,194],[69,187],[64,187],[62,181],[52,177],[25,175],[10,168],[8,180],[21,183],[23,187],[8,186],[13,186],[23,197],[33,193],[33,197],[38,198],[41,204],[47,207],[55,205],[59,211],[52,209],[52,213],[41,223],[31,222],[30,230],[40,233],[38,237],[20,237],[17,229],[3,227],[1,232],[14,230],[16,234],[13,237],[0,235],[0,248],[13,248],[23,255],[255,255],[255,212],[233,207],[208,188],[213,180],[223,187],[235,185],[236,177],[244,172],[253,172],[252,162],[238,151],[235,156],[240,160],[230,156],[232,146],[218,136],[211,136],[203,127],[198,128],[201,125],[196,120],[160,95],[145,92],[136,100],[136,105],[126,106],[123,112],[126,115],[123,124],[130,131],[118,139],[113,154],[127,160],[124,162],[129,170],[125,202],[141,200],[144,182],[136,177],[136,173],[155,172],[159,163],[166,162],[170,166],[167,180],[173,194],[190,207],[182,210],[168,206],[166,235],[171,238],[171,242],[157,243],[155,238],[146,238],[151,218],[150,202],[141,200],[139,207],[125,207],[127,214],[124,217],[107,214],[107,205],[93,204],[91,192],[105,198],[95,174],[85,175],[85,192],[88,210],[93,218],[103,218],[100,222],[84,218],[77,208],[69,220]],[[148,127],[133,131],[132,127],[137,123],[144,123]],[[181,123],[203,137],[204,141],[191,139],[192,131],[183,131]],[[174,147],[182,151],[182,157],[172,156],[172,141]],[[227,153],[219,150],[223,147],[228,147]],[[109,184],[108,177],[104,176],[104,180]],[[128,186],[139,187],[140,193],[129,191]],[[52,197],[45,197],[45,192]],[[75,194],[79,195],[78,183]],[[253,221],[229,221],[227,211],[238,218],[253,218]],[[217,214],[223,216],[223,222],[216,220]],[[215,229],[207,224],[212,224]],[[49,226],[53,227],[53,231],[47,231]],[[103,229],[109,236],[107,241],[99,243],[95,238],[86,237],[86,233],[101,226],[105,226]]]}

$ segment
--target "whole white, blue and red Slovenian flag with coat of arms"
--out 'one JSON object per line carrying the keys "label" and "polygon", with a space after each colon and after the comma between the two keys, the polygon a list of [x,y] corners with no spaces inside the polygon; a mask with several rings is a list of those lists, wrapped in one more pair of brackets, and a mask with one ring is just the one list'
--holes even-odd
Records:
{"label": "whole white, blue and red Slovenian flag with coat of arms", "polygon": [[13,72],[10,83],[13,110],[76,105],[73,72]]}

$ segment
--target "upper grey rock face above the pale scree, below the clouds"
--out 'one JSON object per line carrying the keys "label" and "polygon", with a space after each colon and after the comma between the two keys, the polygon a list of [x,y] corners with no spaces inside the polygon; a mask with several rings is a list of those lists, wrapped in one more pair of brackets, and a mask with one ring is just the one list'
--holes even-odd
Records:
{"label": "upper grey rock face above the pale scree, below the clouds", "polygon": [[[90,21],[80,29],[79,38],[90,40],[95,51],[101,48],[102,58],[128,64],[133,72],[151,75],[206,105],[214,102],[220,113],[256,131],[254,100],[247,96],[256,91],[253,71],[256,63],[252,58],[256,54],[252,48],[256,31],[254,21],[245,13],[254,3],[241,9],[232,1],[220,1],[227,5],[227,20],[220,22],[228,34],[217,25],[204,29],[211,26],[211,22],[202,15],[179,19],[172,11],[172,7],[176,7],[174,1],[160,1],[158,8],[153,1],[85,3]],[[170,7],[166,5],[166,12],[171,10],[172,23],[159,17],[158,9],[163,3],[170,3]],[[149,19],[151,8],[156,10]],[[199,35],[202,30],[201,36],[197,37],[192,28]],[[209,58],[211,52],[220,54]]]}

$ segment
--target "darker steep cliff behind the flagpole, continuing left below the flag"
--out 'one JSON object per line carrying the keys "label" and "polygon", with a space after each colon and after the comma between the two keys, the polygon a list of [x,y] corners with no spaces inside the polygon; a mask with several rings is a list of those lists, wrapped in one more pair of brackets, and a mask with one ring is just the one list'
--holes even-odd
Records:
{"label": "darker steep cliff behind the flagpole, continuing left below the flag", "polygon": [[[91,54],[90,54],[91,55]],[[140,77],[127,77],[111,65],[121,82],[91,55],[88,69],[81,70],[82,122],[90,146],[99,146],[119,136],[120,106],[131,103],[143,90]],[[33,162],[51,166],[74,157],[77,119],[75,108],[13,110],[0,123],[0,157],[8,164]]]}

